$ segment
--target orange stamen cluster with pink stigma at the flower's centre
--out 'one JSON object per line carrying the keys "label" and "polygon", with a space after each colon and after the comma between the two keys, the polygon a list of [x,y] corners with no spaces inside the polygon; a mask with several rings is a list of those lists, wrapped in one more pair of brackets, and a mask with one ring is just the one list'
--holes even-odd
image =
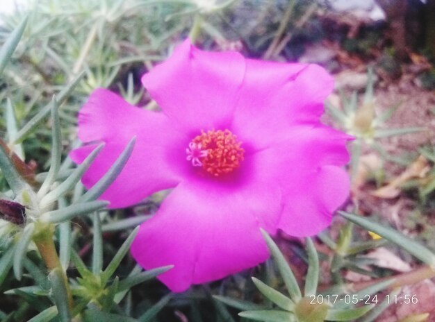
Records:
{"label": "orange stamen cluster with pink stigma at the flower's centre", "polygon": [[240,144],[230,130],[202,130],[186,149],[187,160],[212,176],[222,176],[237,169],[243,161],[245,150]]}

